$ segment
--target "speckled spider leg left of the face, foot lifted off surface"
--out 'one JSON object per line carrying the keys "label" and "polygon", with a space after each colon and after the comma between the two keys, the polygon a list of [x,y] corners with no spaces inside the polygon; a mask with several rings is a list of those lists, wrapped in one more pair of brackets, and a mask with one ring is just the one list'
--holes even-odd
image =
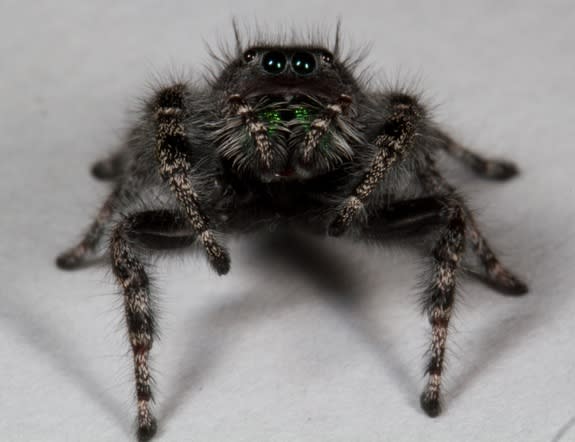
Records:
{"label": "speckled spider leg left of the face, foot lifted off surface", "polygon": [[227,250],[216,240],[210,220],[202,213],[192,183],[189,140],[185,128],[186,87],[174,85],[158,93],[155,103],[156,155],[160,174],[169,184],[203,245],[214,270],[223,275],[229,271]]}

